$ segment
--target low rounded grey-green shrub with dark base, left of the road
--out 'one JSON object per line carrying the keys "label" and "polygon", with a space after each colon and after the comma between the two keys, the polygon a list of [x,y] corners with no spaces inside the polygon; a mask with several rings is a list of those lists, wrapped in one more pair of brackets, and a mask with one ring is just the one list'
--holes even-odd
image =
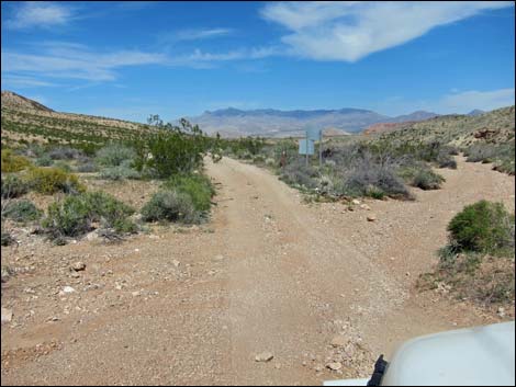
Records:
{"label": "low rounded grey-green shrub with dark base, left of the road", "polygon": [[190,195],[175,190],[159,191],[142,208],[145,221],[169,220],[184,224],[201,221]]}

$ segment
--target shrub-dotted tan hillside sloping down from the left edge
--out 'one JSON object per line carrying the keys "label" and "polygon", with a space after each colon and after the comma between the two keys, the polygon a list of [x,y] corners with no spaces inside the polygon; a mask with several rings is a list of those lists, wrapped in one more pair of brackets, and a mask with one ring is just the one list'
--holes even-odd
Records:
{"label": "shrub-dotted tan hillside sloping down from the left edge", "polygon": [[2,144],[20,141],[102,144],[153,130],[147,125],[83,114],[58,113],[25,96],[2,91]]}

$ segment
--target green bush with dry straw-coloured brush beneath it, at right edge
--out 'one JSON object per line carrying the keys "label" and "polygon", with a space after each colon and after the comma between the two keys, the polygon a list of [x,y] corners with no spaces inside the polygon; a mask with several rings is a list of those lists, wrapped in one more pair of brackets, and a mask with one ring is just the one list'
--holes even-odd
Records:
{"label": "green bush with dry straw-coloured brush beneath it, at right edge", "polygon": [[514,301],[514,221],[501,203],[464,207],[448,225],[449,243],[439,251],[437,270],[424,274],[419,286],[446,284],[457,297],[484,306]]}

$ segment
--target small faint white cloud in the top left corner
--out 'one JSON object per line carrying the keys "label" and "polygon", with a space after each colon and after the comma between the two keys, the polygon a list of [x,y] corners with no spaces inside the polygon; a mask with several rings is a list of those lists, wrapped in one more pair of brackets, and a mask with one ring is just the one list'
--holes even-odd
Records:
{"label": "small faint white cloud in the top left corner", "polygon": [[13,30],[65,25],[74,18],[74,10],[56,2],[22,2],[5,21],[5,26]]}

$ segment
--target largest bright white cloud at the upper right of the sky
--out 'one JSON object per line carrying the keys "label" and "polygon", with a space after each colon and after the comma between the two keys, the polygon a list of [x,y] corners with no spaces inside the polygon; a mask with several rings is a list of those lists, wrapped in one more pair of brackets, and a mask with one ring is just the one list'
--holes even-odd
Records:
{"label": "largest bright white cloud at the upper right of the sky", "polygon": [[283,25],[290,54],[356,61],[511,1],[322,1],[270,3],[261,15]]}

